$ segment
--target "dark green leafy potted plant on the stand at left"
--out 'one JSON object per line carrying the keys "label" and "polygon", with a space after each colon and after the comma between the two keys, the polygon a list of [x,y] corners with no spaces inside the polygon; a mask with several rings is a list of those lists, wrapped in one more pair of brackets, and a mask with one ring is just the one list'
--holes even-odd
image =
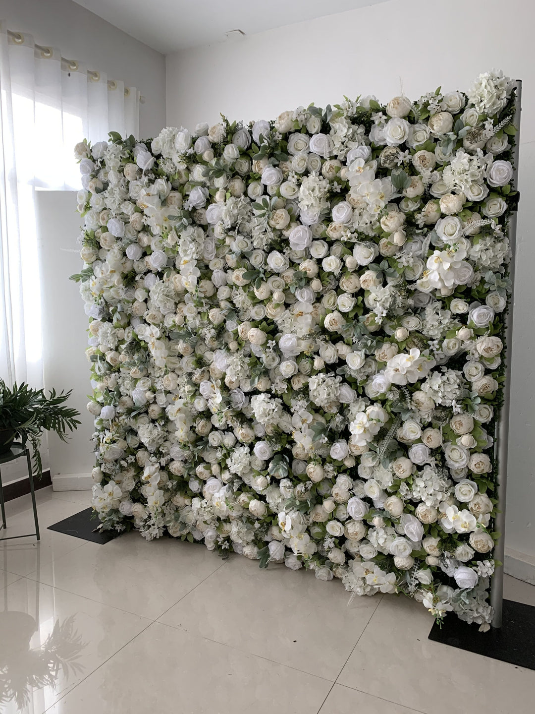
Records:
{"label": "dark green leafy potted plant on the stand at left", "polygon": [[53,389],[47,397],[43,389],[32,389],[26,383],[14,384],[10,389],[0,379],[0,454],[11,449],[16,438],[29,441],[34,455],[34,473],[41,475],[39,453],[44,431],[54,431],[61,441],[67,440],[67,430],[73,431],[80,423],[76,409],[65,406],[72,390],[57,394]]}

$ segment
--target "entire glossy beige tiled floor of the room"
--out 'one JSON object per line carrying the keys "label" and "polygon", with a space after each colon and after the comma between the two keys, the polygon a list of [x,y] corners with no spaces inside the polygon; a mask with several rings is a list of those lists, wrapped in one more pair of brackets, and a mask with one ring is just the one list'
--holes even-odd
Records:
{"label": "entire glossy beige tiled floor of the room", "polygon": [[[427,640],[422,605],[203,546],[48,531],[89,492],[38,493],[42,539],[0,543],[0,713],[528,714],[535,672]],[[6,506],[31,530],[29,496]],[[535,587],[506,578],[506,597]]]}

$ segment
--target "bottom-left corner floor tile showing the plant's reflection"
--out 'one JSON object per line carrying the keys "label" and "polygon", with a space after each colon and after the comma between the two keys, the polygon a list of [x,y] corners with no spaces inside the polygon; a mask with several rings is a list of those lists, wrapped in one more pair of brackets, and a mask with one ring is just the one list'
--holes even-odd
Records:
{"label": "bottom-left corner floor tile showing the plant's reflection", "polygon": [[20,578],[0,591],[2,714],[42,714],[150,624]]}

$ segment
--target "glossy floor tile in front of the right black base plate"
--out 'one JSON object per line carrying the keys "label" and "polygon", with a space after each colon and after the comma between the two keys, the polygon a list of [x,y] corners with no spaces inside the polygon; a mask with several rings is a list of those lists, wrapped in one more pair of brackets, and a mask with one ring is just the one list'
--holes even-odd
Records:
{"label": "glossy floor tile in front of the right black base plate", "polygon": [[432,624],[420,603],[384,597],[338,683],[426,714],[532,710],[535,672],[432,642]]}

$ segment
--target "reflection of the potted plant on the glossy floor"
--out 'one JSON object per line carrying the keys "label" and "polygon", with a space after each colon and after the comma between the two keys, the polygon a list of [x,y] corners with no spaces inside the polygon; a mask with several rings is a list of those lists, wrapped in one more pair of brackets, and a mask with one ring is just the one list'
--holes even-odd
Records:
{"label": "reflection of the potted plant on the glossy floor", "polygon": [[[36,613],[39,613],[39,608],[36,608]],[[32,711],[32,695],[36,690],[54,688],[59,675],[67,679],[83,671],[78,659],[86,643],[76,630],[75,619],[75,615],[71,615],[63,622],[56,620],[46,640],[39,647],[31,648],[31,638],[39,630],[39,622],[18,610],[0,613],[2,710],[12,703],[19,712]]]}

